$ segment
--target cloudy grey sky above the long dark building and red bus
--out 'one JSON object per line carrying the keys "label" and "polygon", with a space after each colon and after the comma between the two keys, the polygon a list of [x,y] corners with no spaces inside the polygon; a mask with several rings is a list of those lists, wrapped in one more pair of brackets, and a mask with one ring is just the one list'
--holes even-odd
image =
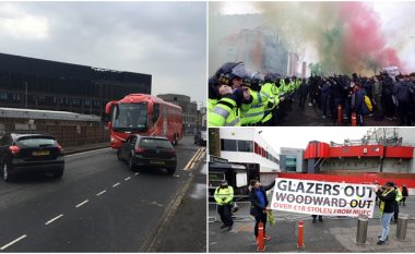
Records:
{"label": "cloudy grey sky above the long dark building and red bus", "polygon": [[0,52],[151,74],[153,95],[200,106],[205,13],[204,2],[0,2]]}

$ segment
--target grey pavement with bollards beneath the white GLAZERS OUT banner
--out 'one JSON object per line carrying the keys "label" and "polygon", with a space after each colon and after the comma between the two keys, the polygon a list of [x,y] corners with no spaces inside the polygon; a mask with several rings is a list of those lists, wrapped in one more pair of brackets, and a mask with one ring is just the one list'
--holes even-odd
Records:
{"label": "grey pavement with bollards beneath the white GLAZERS OUT banner", "polygon": [[[408,214],[406,239],[396,239],[396,225],[391,223],[389,240],[384,245],[377,245],[378,235],[382,228],[378,210],[369,219],[367,242],[356,243],[357,218],[323,217],[322,222],[312,223],[310,215],[274,210],[275,225],[266,225],[266,234],[272,239],[265,241],[265,252],[375,252],[375,253],[414,253],[415,252],[415,198],[410,197],[406,206],[400,206],[401,214]],[[209,252],[257,252],[253,237],[253,217],[249,216],[249,203],[241,203],[239,210],[234,214],[235,222],[232,231],[221,230],[221,221],[214,221],[215,208],[209,207]],[[297,223],[304,220],[304,249],[297,249]]]}

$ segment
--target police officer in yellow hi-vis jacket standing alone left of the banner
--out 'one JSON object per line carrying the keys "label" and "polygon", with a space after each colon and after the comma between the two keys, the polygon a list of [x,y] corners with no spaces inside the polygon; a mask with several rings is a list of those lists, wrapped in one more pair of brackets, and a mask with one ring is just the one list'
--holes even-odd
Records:
{"label": "police officer in yellow hi-vis jacket standing alone left of the banner", "polygon": [[230,231],[234,225],[232,218],[232,202],[234,199],[234,189],[229,186],[226,180],[221,182],[221,186],[216,188],[214,194],[217,213],[221,215],[221,220],[223,222],[221,229],[226,228]]}

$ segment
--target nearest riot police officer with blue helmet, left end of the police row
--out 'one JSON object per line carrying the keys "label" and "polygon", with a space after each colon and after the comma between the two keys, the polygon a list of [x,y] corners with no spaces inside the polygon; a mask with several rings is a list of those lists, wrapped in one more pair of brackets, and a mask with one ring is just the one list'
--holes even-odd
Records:
{"label": "nearest riot police officer with blue helmet, left end of the police row", "polygon": [[240,110],[247,111],[252,97],[241,87],[247,76],[242,62],[228,62],[216,71],[218,93],[223,94],[209,113],[210,126],[240,126]]}

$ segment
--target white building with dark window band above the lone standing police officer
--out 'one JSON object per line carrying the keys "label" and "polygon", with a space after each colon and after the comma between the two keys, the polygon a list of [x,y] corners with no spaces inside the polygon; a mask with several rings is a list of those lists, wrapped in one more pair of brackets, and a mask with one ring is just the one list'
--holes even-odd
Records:
{"label": "white building with dark window band above the lone standing police officer", "polygon": [[259,164],[260,173],[280,172],[280,156],[254,128],[221,128],[220,157],[229,162]]}

